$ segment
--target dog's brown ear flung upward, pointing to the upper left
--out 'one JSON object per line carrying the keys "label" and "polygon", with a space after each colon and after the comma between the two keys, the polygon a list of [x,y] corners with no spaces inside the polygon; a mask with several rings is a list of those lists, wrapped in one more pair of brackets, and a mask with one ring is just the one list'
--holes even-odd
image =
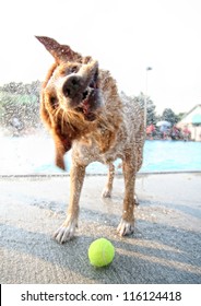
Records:
{"label": "dog's brown ear flung upward, pointing to the upper left", "polygon": [[69,46],[60,45],[55,39],[45,36],[36,36],[36,38],[52,55],[56,62],[60,63],[63,61],[82,61],[82,56],[78,52],[74,52]]}

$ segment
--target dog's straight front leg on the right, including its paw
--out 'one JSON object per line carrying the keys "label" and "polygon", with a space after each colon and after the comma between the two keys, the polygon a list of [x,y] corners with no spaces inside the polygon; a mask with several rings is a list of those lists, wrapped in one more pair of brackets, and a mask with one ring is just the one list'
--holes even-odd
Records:
{"label": "dog's straight front leg on the right, including its paw", "polygon": [[135,163],[132,158],[122,162],[125,177],[125,199],[122,217],[117,232],[120,236],[132,234],[134,231],[134,184],[135,184]]}

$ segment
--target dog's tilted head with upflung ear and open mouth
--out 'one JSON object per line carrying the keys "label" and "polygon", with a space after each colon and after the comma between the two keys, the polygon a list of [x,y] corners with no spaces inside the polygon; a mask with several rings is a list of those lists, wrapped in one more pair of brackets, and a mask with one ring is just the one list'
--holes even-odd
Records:
{"label": "dog's tilted head with upflung ear and open mouth", "polygon": [[91,57],[82,57],[69,46],[49,37],[36,38],[54,56],[56,63],[44,83],[46,109],[79,113],[86,121],[96,119],[102,105],[98,90],[98,63]]}

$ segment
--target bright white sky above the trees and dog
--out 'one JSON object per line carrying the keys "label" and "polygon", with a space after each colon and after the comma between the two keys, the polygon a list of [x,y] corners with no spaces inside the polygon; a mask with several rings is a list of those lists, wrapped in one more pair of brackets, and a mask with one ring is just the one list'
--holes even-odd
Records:
{"label": "bright white sky above the trees and dog", "polygon": [[[43,81],[52,57],[35,35],[90,55],[119,91],[157,114],[201,104],[200,0],[1,0],[0,84]],[[146,71],[151,67],[152,70]]]}

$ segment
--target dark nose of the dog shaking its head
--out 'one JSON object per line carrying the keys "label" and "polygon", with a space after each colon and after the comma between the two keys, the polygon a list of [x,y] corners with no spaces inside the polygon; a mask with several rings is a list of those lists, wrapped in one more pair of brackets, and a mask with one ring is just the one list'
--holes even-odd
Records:
{"label": "dark nose of the dog shaking its head", "polygon": [[62,86],[63,95],[73,98],[80,92],[82,83],[82,78],[80,75],[69,76]]}

